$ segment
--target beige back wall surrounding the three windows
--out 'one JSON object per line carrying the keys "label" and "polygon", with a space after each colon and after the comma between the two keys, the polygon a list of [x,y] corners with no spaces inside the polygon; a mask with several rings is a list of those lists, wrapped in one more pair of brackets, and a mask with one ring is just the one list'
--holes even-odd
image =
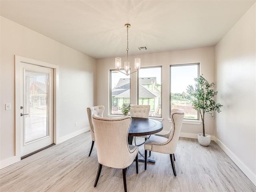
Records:
{"label": "beige back wall surrounding the three windows", "polygon": [[[125,52],[125,48],[124,48]],[[134,60],[137,56],[129,56],[129,60]],[[138,55],[141,58],[141,66],[162,66],[162,118],[164,130],[170,129],[169,102],[170,102],[170,65],[200,62],[201,74],[210,82],[214,82],[215,74],[215,48],[196,48],[190,50],[170,51],[154,54]],[[124,61],[125,58],[122,58]],[[97,89],[96,104],[104,105],[106,117],[109,114],[109,70],[115,68],[115,58],[97,60]],[[132,69],[135,70],[135,69]],[[194,82],[191,82],[194,84]],[[131,75],[131,103],[136,104],[136,73]],[[206,133],[214,134],[214,118],[206,116]],[[183,124],[182,136],[197,138],[197,134],[202,132],[202,125]]]}

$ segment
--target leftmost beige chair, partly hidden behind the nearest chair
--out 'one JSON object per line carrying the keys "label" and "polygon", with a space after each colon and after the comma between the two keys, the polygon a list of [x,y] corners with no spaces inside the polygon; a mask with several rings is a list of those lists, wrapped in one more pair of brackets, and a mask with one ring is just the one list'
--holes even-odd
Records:
{"label": "leftmost beige chair, partly hidden behind the nearest chair", "polygon": [[104,106],[103,105],[93,106],[93,107],[88,107],[87,108],[87,115],[88,115],[90,130],[91,130],[91,136],[92,136],[92,146],[91,146],[89,156],[92,153],[92,148],[93,148],[94,141],[95,141],[94,128],[93,128],[93,124],[92,124],[92,115],[96,114],[99,117],[103,117],[103,112],[104,112]]}

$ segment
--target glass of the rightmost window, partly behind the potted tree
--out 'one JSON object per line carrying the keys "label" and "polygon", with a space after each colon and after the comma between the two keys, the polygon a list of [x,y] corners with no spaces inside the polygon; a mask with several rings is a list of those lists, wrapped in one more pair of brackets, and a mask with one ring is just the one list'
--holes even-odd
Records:
{"label": "glass of the rightmost window, partly behind the potted tree", "polygon": [[184,110],[184,119],[199,120],[198,111],[194,110],[187,94],[188,85],[194,85],[198,78],[199,63],[170,66],[170,108]]}

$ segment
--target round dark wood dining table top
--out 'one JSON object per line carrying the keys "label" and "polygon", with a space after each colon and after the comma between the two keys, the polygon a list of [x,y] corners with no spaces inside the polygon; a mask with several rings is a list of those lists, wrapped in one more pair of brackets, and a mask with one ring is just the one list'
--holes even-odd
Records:
{"label": "round dark wood dining table top", "polygon": [[151,135],[162,131],[163,124],[154,119],[132,117],[128,136]]}

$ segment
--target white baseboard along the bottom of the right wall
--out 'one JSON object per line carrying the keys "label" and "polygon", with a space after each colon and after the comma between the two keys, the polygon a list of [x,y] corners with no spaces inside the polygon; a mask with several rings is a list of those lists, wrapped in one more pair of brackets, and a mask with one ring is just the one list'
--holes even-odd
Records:
{"label": "white baseboard along the bottom of the right wall", "polygon": [[236,157],[218,138],[215,139],[215,142],[222,148],[222,150],[230,157],[230,159],[244,172],[244,174],[251,180],[251,182],[256,186],[256,175],[244,165],[238,157]]}

